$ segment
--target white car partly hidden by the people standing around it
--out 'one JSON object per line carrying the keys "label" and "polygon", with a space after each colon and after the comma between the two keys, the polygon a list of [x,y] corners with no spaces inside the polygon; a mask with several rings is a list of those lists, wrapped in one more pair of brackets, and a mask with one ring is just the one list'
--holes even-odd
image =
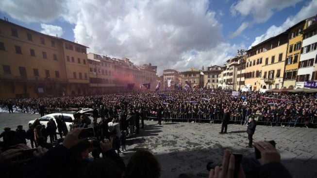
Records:
{"label": "white car partly hidden by the people standing around it", "polygon": [[[45,116],[39,118],[39,120],[40,120],[41,125],[45,125],[45,127],[47,127],[47,123],[50,121],[50,119],[53,119],[55,124],[56,124],[56,126],[57,126],[56,118],[59,115],[63,115],[64,121],[65,121],[66,126],[67,126],[67,129],[70,130],[70,128],[73,127],[73,123],[74,123],[74,120],[75,120],[73,114],[52,113],[52,114],[48,114],[48,115],[45,115]],[[34,123],[34,120],[33,121],[29,121],[29,124],[33,124],[33,123]]]}

